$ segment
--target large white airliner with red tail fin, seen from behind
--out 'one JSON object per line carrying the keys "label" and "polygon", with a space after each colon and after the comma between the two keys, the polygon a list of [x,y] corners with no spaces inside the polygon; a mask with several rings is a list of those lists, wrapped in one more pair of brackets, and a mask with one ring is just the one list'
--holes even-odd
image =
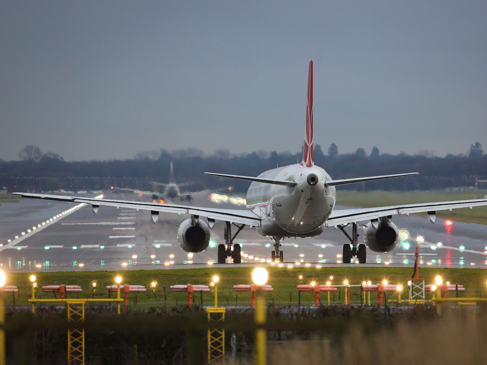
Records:
{"label": "large white airliner with red tail fin, seen from behind", "polygon": [[[87,203],[92,205],[95,214],[100,205],[148,210],[153,223],[157,222],[159,212],[189,215],[189,218],[179,225],[177,238],[180,247],[192,253],[206,250],[215,220],[224,221],[225,244],[218,245],[219,264],[225,263],[227,257],[232,257],[233,263],[241,263],[241,246],[233,244],[233,241],[246,225],[250,228],[255,227],[259,234],[274,240],[274,250],[271,252],[274,262],[277,260],[280,263],[284,262],[283,251],[280,249],[280,242],[284,237],[315,237],[323,234],[325,227],[335,227],[339,228],[350,241],[343,245],[342,262],[350,263],[352,257],[356,256],[358,262],[364,264],[367,262],[367,248],[374,252],[389,252],[396,246],[398,231],[393,223],[393,216],[397,214],[425,212],[431,223],[434,223],[438,210],[487,205],[487,199],[472,199],[361,209],[334,209],[337,201],[335,188],[337,185],[412,176],[417,172],[333,180],[324,169],[314,164],[312,60],[309,62],[302,161],[265,171],[258,177],[210,172],[205,174],[252,182],[247,191],[246,210],[34,193],[14,194],[24,198]],[[202,218],[206,218],[206,221]],[[357,227],[358,223],[363,221],[368,223],[363,224],[364,243],[359,244]],[[349,224],[352,224],[351,236],[345,231],[345,227]],[[232,226],[237,228],[233,236]]]}

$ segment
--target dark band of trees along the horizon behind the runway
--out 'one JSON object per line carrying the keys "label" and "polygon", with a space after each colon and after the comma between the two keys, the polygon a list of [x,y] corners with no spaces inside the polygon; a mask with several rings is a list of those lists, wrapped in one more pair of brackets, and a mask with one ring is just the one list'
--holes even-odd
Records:
{"label": "dark band of trees along the horizon behind the runway", "polygon": [[[176,151],[141,152],[133,159],[105,161],[67,162],[54,152],[42,153],[37,146],[25,146],[19,153],[20,161],[0,160],[0,186],[17,190],[97,190],[129,187],[141,190],[158,189],[156,183],[169,182],[169,164],[173,161],[177,183],[192,183],[188,190],[227,188],[244,192],[248,182],[215,178],[204,172],[222,172],[234,175],[257,176],[265,170],[300,162],[301,152],[254,151],[247,154],[231,154],[218,150],[205,155],[194,148]],[[380,153],[374,147],[370,154],[363,148],[355,153],[339,154],[336,144],[331,144],[327,154],[321,146],[314,148],[314,161],[334,179],[361,176],[389,175],[403,172],[419,172],[420,175],[346,185],[348,190],[431,190],[473,186],[475,176],[487,176],[487,155],[476,142],[468,154],[431,156],[423,154],[392,155]]]}

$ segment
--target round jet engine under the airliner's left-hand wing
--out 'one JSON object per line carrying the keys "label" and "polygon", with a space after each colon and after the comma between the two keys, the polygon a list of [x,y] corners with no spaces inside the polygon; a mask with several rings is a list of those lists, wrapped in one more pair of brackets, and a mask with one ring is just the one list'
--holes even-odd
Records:
{"label": "round jet engine under the airliner's left-hand wing", "polygon": [[201,219],[186,219],[178,228],[178,243],[186,252],[202,252],[210,243],[210,229]]}

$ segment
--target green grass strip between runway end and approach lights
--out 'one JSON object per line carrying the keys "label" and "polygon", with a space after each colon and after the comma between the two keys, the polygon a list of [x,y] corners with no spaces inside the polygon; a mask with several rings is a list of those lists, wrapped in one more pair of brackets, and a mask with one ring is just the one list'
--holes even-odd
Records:
{"label": "green grass strip between runway end and approach lights", "polygon": [[[147,293],[137,293],[137,308],[143,309],[150,306],[164,305],[163,285],[167,288],[168,305],[176,304],[176,298],[179,305],[187,303],[187,293],[170,292],[169,286],[174,284],[208,284],[211,277],[215,274],[220,276],[218,297],[221,305],[235,305],[236,297],[233,285],[236,284],[250,284],[252,267],[238,267],[238,268],[198,268],[198,269],[175,269],[175,270],[130,270],[130,271],[96,271],[96,272],[53,272],[53,273],[35,273],[37,276],[37,283],[42,285],[80,285],[83,289],[82,293],[69,293],[70,298],[92,297],[93,290],[90,287],[92,280],[97,280],[99,285],[97,287],[95,297],[107,298],[108,293],[106,286],[114,284],[114,277],[120,274],[123,277],[123,283],[146,285]],[[303,275],[303,284],[309,284],[312,280],[317,283],[324,284],[329,280],[329,276],[333,275],[332,282],[336,285],[342,284],[343,280],[347,279],[350,284],[360,284],[364,280],[371,280],[373,283],[381,282],[387,279],[392,284],[402,284],[407,289],[407,282],[412,275],[412,268],[385,268],[385,267],[352,267],[352,268],[268,268],[269,280],[274,288],[274,292],[266,293],[268,303],[282,304],[282,305],[297,305],[298,291],[296,286],[300,284],[298,276]],[[426,283],[433,283],[436,275],[441,275],[444,281],[450,283],[463,284],[466,287],[466,292],[461,293],[462,296],[483,297],[487,296],[486,280],[487,272],[484,269],[440,269],[440,268],[425,268],[420,269],[420,274],[426,279]],[[29,281],[29,273],[8,273],[7,285],[17,285],[19,287],[20,296],[16,297],[17,304],[27,304],[27,299],[31,297],[31,284]],[[154,298],[152,291],[149,289],[150,282],[156,280],[158,285],[156,288],[156,296]],[[335,293],[335,300],[337,304],[343,302],[343,288],[338,289],[340,292],[340,302],[338,302],[338,292]],[[40,288],[36,290],[36,298],[42,291]],[[290,302],[289,293],[292,296]],[[351,289],[351,302],[360,303],[359,288]],[[58,294],[57,294],[58,295]],[[130,303],[133,304],[134,293],[129,294]],[[320,295],[321,302],[325,303],[326,293]],[[396,294],[391,293],[390,299],[395,298]],[[454,293],[450,293],[454,295]],[[203,293],[204,305],[211,305],[213,303],[212,293]],[[407,294],[403,294],[403,299]],[[6,304],[12,303],[12,295],[4,294]],[[59,297],[59,295],[58,295]],[[331,296],[333,298],[333,295]],[[42,293],[42,298],[54,298],[52,293]],[[372,293],[372,301],[375,301],[376,295]],[[312,304],[313,295],[311,292],[301,293],[302,304]],[[200,303],[200,294],[195,293],[195,304]],[[250,292],[238,293],[238,304],[249,304]],[[376,303],[376,302],[375,302]]]}

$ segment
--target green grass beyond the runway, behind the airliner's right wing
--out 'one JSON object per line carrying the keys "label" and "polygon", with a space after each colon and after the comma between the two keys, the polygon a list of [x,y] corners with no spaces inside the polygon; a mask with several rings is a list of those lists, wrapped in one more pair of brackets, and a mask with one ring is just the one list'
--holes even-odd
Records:
{"label": "green grass beyond the runway, behind the airliner's right wing", "polygon": [[[396,204],[413,204],[428,203],[434,201],[457,201],[481,198],[487,195],[487,190],[471,191],[406,191],[406,192],[389,192],[389,191],[337,191],[337,204],[368,208],[375,206],[389,206]],[[487,224],[487,206],[470,208],[441,210],[436,212],[437,217],[441,219],[451,218],[468,223]],[[426,216],[426,213],[418,214]]]}

